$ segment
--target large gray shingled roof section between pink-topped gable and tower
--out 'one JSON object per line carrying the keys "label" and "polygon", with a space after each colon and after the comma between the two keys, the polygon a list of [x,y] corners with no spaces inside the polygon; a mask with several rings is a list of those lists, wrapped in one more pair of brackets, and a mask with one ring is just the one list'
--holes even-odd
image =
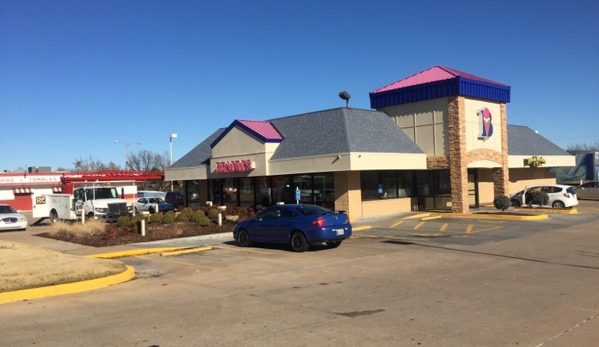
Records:
{"label": "large gray shingled roof section between pink-topped gable and tower", "polygon": [[272,159],[349,152],[424,153],[379,111],[336,108],[270,121],[284,138]]}

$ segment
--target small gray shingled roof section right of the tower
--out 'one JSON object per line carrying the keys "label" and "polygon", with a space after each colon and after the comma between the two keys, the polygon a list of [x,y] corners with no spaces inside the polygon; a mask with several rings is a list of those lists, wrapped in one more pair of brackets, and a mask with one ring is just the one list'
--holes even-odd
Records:
{"label": "small gray shingled roof section right of the tower", "polygon": [[523,125],[507,126],[509,155],[571,155]]}

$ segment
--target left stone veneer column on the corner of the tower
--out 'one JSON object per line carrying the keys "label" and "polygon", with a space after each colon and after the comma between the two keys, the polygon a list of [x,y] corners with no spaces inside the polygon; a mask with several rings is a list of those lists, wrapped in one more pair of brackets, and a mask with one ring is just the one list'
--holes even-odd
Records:
{"label": "left stone veneer column on the corner of the tower", "polygon": [[449,98],[449,175],[451,180],[451,210],[470,212],[468,204],[468,167],[466,155],[466,112],[464,97]]}

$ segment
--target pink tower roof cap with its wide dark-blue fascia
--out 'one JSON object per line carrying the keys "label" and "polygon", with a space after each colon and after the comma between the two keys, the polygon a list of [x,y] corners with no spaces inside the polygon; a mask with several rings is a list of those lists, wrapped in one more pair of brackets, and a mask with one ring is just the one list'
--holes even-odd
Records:
{"label": "pink tower roof cap with its wide dark-blue fascia", "polygon": [[454,95],[507,103],[510,86],[437,65],[371,92],[370,106],[382,108]]}

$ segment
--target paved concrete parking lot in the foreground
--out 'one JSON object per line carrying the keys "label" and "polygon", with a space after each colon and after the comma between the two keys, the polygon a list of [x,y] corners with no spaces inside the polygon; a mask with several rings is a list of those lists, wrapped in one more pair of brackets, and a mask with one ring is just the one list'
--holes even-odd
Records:
{"label": "paved concrete parking lot in the foreground", "polygon": [[[2,306],[11,346],[595,346],[599,202],[539,221],[373,218],[337,249],[123,259],[138,279]],[[31,329],[35,326],[36,329]]]}

